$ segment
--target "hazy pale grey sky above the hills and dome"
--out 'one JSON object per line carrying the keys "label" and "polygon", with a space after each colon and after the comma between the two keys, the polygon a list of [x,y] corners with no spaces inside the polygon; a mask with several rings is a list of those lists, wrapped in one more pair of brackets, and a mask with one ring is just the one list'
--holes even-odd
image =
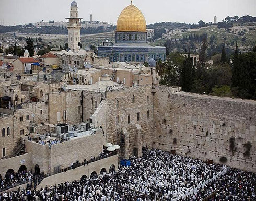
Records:
{"label": "hazy pale grey sky above the hills and dome", "polygon": [[[37,21],[65,21],[73,0],[0,0],[0,24],[18,25]],[[89,21],[117,23],[123,8],[130,0],[76,0],[78,15]],[[171,21],[197,23],[199,20],[213,22],[226,16],[256,16],[256,0],[133,0],[141,9],[147,24]]]}

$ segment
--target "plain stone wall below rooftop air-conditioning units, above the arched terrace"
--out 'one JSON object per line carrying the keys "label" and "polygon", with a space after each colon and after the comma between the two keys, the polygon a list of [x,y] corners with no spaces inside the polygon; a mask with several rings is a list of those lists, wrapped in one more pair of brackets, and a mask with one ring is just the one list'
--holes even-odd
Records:
{"label": "plain stone wall below rooftop air-conditioning units, above the arched terrace", "polygon": [[84,159],[89,160],[91,156],[97,157],[103,151],[105,143],[106,139],[101,129],[97,129],[94,135],[77,137],[52,145],[51,148],[25,139],[26,152],[32,153],[32,167],[38,165],[44,173],[53,172],[59,165],[66,168],[76,160],[82,162]]}

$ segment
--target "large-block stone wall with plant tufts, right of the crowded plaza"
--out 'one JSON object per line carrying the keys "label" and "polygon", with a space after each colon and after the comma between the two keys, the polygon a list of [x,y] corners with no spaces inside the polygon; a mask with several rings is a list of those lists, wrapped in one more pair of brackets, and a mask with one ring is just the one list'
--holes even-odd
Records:
{"label": "large-block stone wall with plant tufts, right of the crowded plaza", "polygon": [[[225,156],[225,164],[255,172],[255,114],[256,101],[175,93],[156,86],[154,147],[217,163]],[[246,157],[248,142],[252,147]]]}

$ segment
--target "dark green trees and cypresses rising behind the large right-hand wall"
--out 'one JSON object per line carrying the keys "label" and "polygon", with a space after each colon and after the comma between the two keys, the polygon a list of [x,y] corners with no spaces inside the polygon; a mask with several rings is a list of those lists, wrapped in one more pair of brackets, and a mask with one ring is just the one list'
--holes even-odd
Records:
{"label": "dark green trees and cypresses rising behind the large right-hand wall", "polygon": [[196,65],[191,62],[190,51],[188,57],[171,52],[167,62],[158,61],[156,72],[160,76],[160,84],[182,86],[186,92],[255,100],[256,46],[252,52],[239,54],[236,44],[232,60],[223,46],[219,62],[211,68],[206,62],[207,46],[205,38],[199,53],[200,62]]}

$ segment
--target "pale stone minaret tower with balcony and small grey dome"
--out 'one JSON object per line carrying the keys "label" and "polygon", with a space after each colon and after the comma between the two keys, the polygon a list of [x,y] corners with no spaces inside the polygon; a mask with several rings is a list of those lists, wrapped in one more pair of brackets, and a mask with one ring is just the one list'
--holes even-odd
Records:
{"label": "pale stone minaret tower with balcony and small grey dome", "polygon": [[74,0],[70,7],[70,18],[67,19],[67,30],[68,30],[68,48],[73,52],[79,51],[80,45],[80,30],[81,30],[81,20],[78,18],[77,3]]}

